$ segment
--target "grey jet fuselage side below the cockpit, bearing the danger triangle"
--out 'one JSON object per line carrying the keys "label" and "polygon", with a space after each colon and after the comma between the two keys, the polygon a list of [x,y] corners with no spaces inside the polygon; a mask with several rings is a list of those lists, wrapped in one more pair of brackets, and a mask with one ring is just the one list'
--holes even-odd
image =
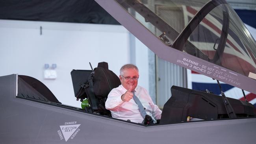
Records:
{"label": "grey jet fuselage side below the cockpit, bearing the danger triangle", "polygon": [[[256,118],[145,127],[15,98],[15,78],[15,75],[0,77],[0,140],[3,144],[249,144],[256,141]],[[65,122],[80,124],[79,131],[67,137],[67,142],[58,134],[60,126],[68,126]]]}

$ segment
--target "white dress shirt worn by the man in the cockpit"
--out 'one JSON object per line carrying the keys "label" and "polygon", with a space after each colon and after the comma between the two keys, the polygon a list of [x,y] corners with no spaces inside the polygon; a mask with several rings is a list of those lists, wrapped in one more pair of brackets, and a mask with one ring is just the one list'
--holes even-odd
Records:
{"label": "white dress shirt worn by the man in the cockpit", "polygon": [[[111,111],[113,118],[118,118],[121,120],[131,120],[131,122],[142,123],[144,118],[139,112],[139,107],[132,98],[129,102],[124,102],[121,99],[122,94],[127,90],[122,86],[112,89],[108,94],[108,99],[105,103],[106,109]],[[135,96],[139,98],[145,111],[150,115],[154,123],[156,119],[161,119],[162,111],[152,102],[151,97],[149,96],[146,89],[143,87],[137,86],[135,88]]]}

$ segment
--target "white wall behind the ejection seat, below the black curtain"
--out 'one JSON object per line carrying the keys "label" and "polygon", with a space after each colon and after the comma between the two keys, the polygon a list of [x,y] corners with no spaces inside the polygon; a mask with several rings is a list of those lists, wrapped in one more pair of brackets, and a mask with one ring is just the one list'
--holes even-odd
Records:
{"label": "white wall behind the ejection seat, below the black curtain", "polygon": [[[42,26],[42,35],[40,35]],[[70,71],[106,61],[119,75],[129,63],[128,31],[122,26],[0,20],[0,76],[20,74],[43,82],[67,105],[80,107]],[[43,79],[45,63],[57,64],[57,79]]]}

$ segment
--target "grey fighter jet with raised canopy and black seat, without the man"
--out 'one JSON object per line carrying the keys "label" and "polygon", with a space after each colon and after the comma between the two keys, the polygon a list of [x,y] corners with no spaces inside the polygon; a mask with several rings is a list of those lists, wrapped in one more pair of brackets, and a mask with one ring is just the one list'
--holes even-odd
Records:
{"label": "grey fighter jet with raised canopy and black seat, without the man", "polygon": [[[256,94],[256,42],[225,0],[95,1],[161,59]],[[0,122],[6,131],[0,139],[4,135],[6,143],[15,137],[20,143],[42,144],[255,143],[256,108],[246,97],[229,98],[220,84],[220,95],[170,86],[171,98],[158,123],[134,123],[113,118],[105,107],[109,92],[121,84],[109,69],[111,63],[86,63],[91,69],[70,70],[73,100],[81,108],[62,104],[35,78],[1,76]]]}

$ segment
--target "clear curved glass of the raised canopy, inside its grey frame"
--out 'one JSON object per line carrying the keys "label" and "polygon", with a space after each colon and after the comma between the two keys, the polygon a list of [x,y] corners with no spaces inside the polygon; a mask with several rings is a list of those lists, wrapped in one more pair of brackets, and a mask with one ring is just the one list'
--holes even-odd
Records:
{"label": "clear curved glass of the raised canopy, inside its grey frame", "polygon": [[170,48],[256,74],[256,42],[224,0],[116,0]]}

